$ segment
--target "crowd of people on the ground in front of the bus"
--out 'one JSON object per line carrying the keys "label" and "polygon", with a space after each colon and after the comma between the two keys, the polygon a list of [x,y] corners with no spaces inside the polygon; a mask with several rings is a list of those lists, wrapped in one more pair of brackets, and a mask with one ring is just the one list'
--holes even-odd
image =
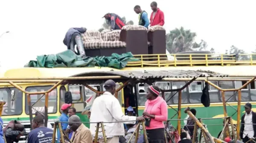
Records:
{"label": "crowd of people on the ground in front of the bus", "polygon": [[[104,122],[105,135],[108,143],[131,143],[135,142],[136,128],[140,121],[144,121],[145,129],[149,143],[165,143],[165,129],[169,126],[167,121],[168,111],[166,101],[159,96],[160,89],[151,85],[147,89],[145,97],[145,110],[142,116],[136,116],[136,112],[132,107],[128,107],[125,115],[114,94],[116,91],[116,83],[108,80],[104,83],[105,92],[102,95],[97,94],[92,106],[88,109],[87,115],[90,120],[90,128],[87,128],[81,119],[76,115],[76,109],[72,104],[63,104],[61,106],[62,114],[59,117],[61,128],[64,131],[65,143],[92,143],[98,140],[98,143],[104,143],[102,126],[99,126],[98,138],[96,136],[96,123]],[[245,114],[241,117],[241,140],[238,143],[252,143],[256,137],[256,113],[252,111],[252,105],[247,103],[244,105]],[[190,109],[192,114],[196,116],[196,110]],[[1,119],[1,118],[0,118]],[[186,118],[181,135],[175,136],[175,143],[192,143],[195,121],[191,117]],[[52,125],[44,124],[44,113],[36,112],[32,120],[32,130],[28,134],[24,125],[18,121],[10,121],[3,128],[3,121],[0,120],[0,143],[18,142],[20,136],[27,135],[27,143],[52,143],[53,129]],[[140,130],[142,126],[140,126]],[[176,132],[176,131],[175,131]],[[198,142],[198,134],[195,135],[195,142]],[[70,141],[69,141],[70,140]],[[168,142],[170,138],[168,139]],[[227,143],[234,143],[229,137],[225,138]],[[58,129],[57,142],[61,142],[61,134]],[[137,143],[144,143],[145,138],[139,132]]]}

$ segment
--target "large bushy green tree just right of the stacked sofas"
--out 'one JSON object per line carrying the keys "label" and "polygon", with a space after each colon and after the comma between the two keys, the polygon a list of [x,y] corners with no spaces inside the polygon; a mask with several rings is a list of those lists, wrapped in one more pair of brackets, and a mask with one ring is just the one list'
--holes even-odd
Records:
{"label": "large bushy green tree just right of the stacked sofas", "polygon": [[207,50],[207,42],[195,42],[196,33],[183,27],[175,28],[166,35],[166,49],[169,53],[185,52],[189,50]]}

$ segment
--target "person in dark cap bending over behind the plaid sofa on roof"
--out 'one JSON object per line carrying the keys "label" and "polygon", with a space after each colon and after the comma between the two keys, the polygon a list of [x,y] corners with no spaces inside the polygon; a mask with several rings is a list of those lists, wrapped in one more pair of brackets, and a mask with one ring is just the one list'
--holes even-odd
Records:
{"label": "person in dark cap bending over behind the plaid sofa on roof", "polygon": [[102,18],[105,18],[107,22],[111,24],[111,31],[121,30],[125,25],[125,22],[122,20],[122,18],[114,13],[107,13]]}

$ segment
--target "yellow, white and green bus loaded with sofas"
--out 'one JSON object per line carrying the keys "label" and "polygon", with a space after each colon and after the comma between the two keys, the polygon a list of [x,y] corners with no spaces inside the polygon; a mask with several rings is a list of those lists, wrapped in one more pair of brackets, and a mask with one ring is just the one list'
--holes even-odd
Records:
{"label": "yellow, white and green bus loaded with sofas", "polygon": [[[235,70],[236,69],[236,70]],[[74,68],[32,68],[24,67],[7,70],[3,74],[3,78],[52,78],[52,77],[70,77],[74,75],[79,75],[86,72],[100,72],[100,71],[160,71],[160,70],[201,70],[201,71],[211,71],[216,73],[227,74],[231,76],[244,76],[244,75],[253,75],[253,69],[256,69],[256,66],[252,65],[234,65],[234,66],[178,66],[178,67],[132,67],[128,66],[121,70],[113,69],[110,67],[74,67]],[[240,71],[240,72],[239,72]],[[243,71],[243,72],[241,72]],[[22,74],[20,74],[22,73]],[[155,81],[153,84],[159,86],[161,89],[177,89],[183,87],[189,79],[184,79],[183,81]],[[227,88],[237,88],[241,87],[247,81],[211,81],[212,83],[218,85],[223,89]],[[55,82],[40,82],[40,83],[17,83],[22,89],[26,91],[35,92],[35,91],[46,91],[49,90]],[[123,83],[116,83],[117,88]],[[103,89],[102,81],[95,81],[89,84],[95,90]],[[182,111],[186,107],[195,108],[197,110],[197,118],[219,118],[224,117],[223,114],[223,103],[221,99],[220,91],[216,88],[209,86],[210,107],[205,108],[200,101],[202,95],[202,89],[205,85],[204,80],[202,81],[193,81],[188,87],[182,90]],[[125,108],[128,106],[137,108],[137,114],[142,115],[143,110],[145,109],[145,92],[147,90],[148,84],[138,83],[132,88],[124,87],[118,93],[118,100],[120,106],[122,106],[123,112],[125,113]],[[60,107],[64,103],[64,93],[70,91],[72,93],[73,104],[72,106],[76,108],[77,115],[80,116],[82,121],[88,121],[87,116],[81,115],[82,110],[86,106],[85,101],[91,95],[95,94],[92,90],[88,89],[81,84],[66,84],[59,85],[56,89],[52,90],[49,93],[49,105],[48,105],[48,122],[53,125],[55,121],[58,121],[58,117],[61,115]],[[165,93],[165,99],[168,104],[169,118],[176,114],[174,109],[178,107],[178,95],[174,95],[175,92]],[[234,96],[232,96],[234,94]],[[31,102],[33,105],[32,112],[35,113],[35,109],[38,111],[44,111],[44,100],[41,98],[42,95],[31,95]],[[171,98],[173,96],[173,98]],[[236,108],[237,106],[237,93],[235,92],[226,92],[226,99],[230,98],[228,104]],[[35,103],[39,98],[38,102]],[[25,93],[21,92],[17,88],[13,87],[7,83],[0,84],[0,100],[6,101],[6,104],[3,106],[2,118],[4,121],[4,126],[11,120],[20,121],[25,125],[26,131],[30,131],[30,122],[29,122],[29,110],[27,104],[27,98]],[[255,81],[249,84],[242,90],[242,102],[243,104],[250,102],[251,104],[256,104],[256,87]],[[174,108],[174,109],[172,109]],[[256,108],[253,108],[255,111]],[[243,112],[243,111],[241,111]],[[237,120],[240,121],[240,118],[236,118],[236,111],[227,106],[227,113],[229,116],[233,117],[234,123]],[[242,115],[242,114],[241,114]],[[185,118],[186,114],[182,112],[181,118]],[[177,119],[177,115],[174,116],[174,119]],[[217,136],[219,131],[223,128],[220,124],[222,119],[216,120],[207,120],[204,121],[204,124],[207,125],[209,132],[212,136]],[[177,126],[177,121],[171,121],[173,126]],[[183,125],[184,123],[181,122]],[[216,126],[218,124],[218,126]],[[89,124],[86,124],[89,126]],[[20,141],[21,143],[26,140],[25,137]]]}

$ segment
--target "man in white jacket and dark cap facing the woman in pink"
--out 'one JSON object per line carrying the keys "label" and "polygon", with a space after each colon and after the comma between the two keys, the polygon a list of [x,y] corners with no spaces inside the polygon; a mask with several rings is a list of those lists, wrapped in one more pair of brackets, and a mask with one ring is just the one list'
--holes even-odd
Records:
{"label": "man in white jacket and dark cap facing the woman in pink", "polygon": [[[144,121],[143,117],[124,115],[119,101],[115,98],[116,83],[108,80],[104,83],[105,93],[93,101],[91,107],[90,122],[113,122],[104,123],[108,143],[119,143],[118,136],[125,135],[124,122],[134,124],[137,121]],[[96,123],[90,124],[90,132],[96,134]],[[104,143],[102,128],[99,127],[99,143]]]}

